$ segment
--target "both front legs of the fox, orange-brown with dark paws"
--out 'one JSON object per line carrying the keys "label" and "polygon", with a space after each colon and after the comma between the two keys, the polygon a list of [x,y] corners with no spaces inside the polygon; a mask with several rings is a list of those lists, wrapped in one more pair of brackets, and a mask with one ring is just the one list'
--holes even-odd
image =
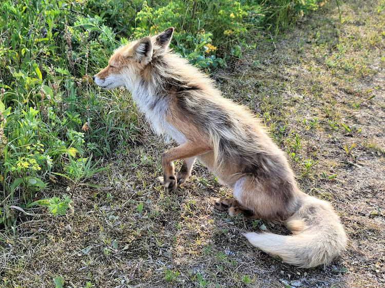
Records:
{"label": "both front legs of the fox, orange-brown with dark paws", "polygon": [[[159,178],[161,183],[164,185],[166,192],[175,190],[178,187],[178,182],[183,183],[188,178],[192,165],[195,161],[195,156],[210,151],[211,148],[205,144],[201,143],[185,143],[176,148],[172,148],[162,154],[162,169],[163,169],[163,179]],[[186,172],[180,172],[177,177],[175,177],[174,170],[174,161],[178,159],[185,159],[182,164],[182,169],[185,169]],[[184,164],[186,162],[186,164]],[[185,168],[183,168],[185,165]]]}

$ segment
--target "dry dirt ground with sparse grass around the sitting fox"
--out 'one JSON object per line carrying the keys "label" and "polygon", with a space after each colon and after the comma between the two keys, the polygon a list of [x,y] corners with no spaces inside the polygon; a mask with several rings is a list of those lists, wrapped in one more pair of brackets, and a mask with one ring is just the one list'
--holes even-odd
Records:
{"label": "dry dirt ground with sparse grass around the sitting fox", "polygon": [[66,216],[37,210],[0,235],[0,287],[54,287],[56,277],[78,288],[384,287],[385,1],[339,2],[341,20],[330,1],[212,75],[263,119],[303,191],[335,207],[349,242],[332,265],[298,269],[253,248],[243,232],[287,231],[214,210],[210,199],[232,191],[198,162],[166,194],[155,179],[174,143],[139,118],[140,143],[90,180],[103,188],[76,190]]}

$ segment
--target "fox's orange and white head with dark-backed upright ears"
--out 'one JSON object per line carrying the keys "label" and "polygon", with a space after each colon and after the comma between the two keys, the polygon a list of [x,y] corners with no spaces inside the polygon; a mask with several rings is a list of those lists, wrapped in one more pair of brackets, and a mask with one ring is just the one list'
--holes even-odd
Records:
{"label": "fox's orange and white head with dark-backed upright ears", "polygon": [[125,86],[133,91],[143,77],[143,70],[151,65],[155,58],[163,56],[168,51],[174,28],[170,27],[152,37],[143,37],[115,50],[102,69],[92,79],[103,89]]}

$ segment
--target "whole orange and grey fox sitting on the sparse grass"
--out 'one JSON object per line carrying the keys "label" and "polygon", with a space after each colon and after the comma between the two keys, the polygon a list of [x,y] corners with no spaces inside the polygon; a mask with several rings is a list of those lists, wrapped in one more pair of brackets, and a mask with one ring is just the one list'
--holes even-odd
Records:
{"label": "whole orange and grey fox sitting on the sparse grass", "polygon": [[284,152],[256,115],[223,97],[214,80],[171,51],[173,33],[170,27],[132,40],[92,77],[106,90],[125,87],[153,130],[178,143],[161,154],[165,191],[185,183],[198,159],[233,191],[234,197],[213,200],[216,209],[280,222],[292,233],[244,233],[252,245],[300,268],[329,265],[347,245],[332,205],[298,188]]}

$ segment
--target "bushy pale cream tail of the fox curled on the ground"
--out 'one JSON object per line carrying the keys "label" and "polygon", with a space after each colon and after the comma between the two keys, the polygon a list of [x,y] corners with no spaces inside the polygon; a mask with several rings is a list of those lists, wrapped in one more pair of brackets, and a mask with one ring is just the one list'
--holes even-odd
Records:
{"label": "bushy pale cream tail of the fox curled on the ground", "polygon": [[346,234],[331,205],[309,195],[303,198],[300,209],[285,221],[285,225],[294,235],[244,235],[263,252],[301,268],[330,264],[347,244]]}

